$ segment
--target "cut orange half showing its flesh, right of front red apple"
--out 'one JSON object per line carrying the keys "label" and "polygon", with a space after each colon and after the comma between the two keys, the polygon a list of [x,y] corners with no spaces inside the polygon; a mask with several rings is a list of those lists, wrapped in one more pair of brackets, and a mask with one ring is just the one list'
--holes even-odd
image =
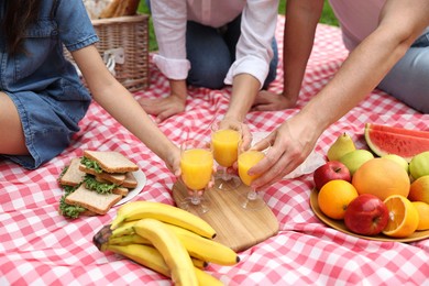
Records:
{"label": "cut orange half showing its flesh, right of front red apple", "polygon": [[419,224],[419,213],[409,199],[393,195],[384,200],[388,209],[388,222],[383,233],[393,238],[411,235]]}

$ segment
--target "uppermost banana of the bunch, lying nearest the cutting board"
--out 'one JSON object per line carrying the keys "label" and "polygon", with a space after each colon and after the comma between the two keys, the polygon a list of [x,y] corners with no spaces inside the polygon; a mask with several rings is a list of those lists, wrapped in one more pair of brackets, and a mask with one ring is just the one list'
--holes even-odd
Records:
{"label": "uppermost banana of the bunch, lying nearest the cutting board", "polygon": [[127,221],[152,218],[182,227],[208,239],[216,237],[215,229],[204,219],[180,208],[156,201],[131,201],[118,209],[111,230]]}

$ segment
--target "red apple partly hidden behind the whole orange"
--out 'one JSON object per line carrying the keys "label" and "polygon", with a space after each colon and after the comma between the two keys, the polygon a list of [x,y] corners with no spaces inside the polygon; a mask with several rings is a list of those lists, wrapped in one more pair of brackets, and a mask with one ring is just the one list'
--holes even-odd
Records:
{"label": "red apple partly hidden behind the whole orange", "polygon": [[343,179],[351,182],[349,168],[339,161],[329,161],[324,163],[318,167],[312,175],[316,189],[318,190],[332,179]]}

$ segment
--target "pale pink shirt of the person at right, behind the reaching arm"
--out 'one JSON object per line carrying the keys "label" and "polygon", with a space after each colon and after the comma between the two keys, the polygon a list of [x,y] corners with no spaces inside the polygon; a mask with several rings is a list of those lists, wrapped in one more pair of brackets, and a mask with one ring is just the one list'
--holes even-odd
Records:
{"label": "pale pink shirt of the person at right, behind the reaching arm", "polygon": [[[329,0],[343,33],[344,45],[353,50],[378,25],[386,0]],[[426,33],[429,28],[426,29]]]}

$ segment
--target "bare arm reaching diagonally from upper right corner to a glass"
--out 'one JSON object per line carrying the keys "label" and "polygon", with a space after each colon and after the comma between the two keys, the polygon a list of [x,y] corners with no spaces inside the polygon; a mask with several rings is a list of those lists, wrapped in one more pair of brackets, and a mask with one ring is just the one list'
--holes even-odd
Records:
{"label": "bare arm reaching diagonally from upper right corner to a glass", "polygon": [[332,80],[302,110],[268,135],[268,157],[251,169],[267,187],[310,154],[320,134],[349,112],[383,79],[429,25],[429,1],[387,0],[380,25],[346,58]]}

